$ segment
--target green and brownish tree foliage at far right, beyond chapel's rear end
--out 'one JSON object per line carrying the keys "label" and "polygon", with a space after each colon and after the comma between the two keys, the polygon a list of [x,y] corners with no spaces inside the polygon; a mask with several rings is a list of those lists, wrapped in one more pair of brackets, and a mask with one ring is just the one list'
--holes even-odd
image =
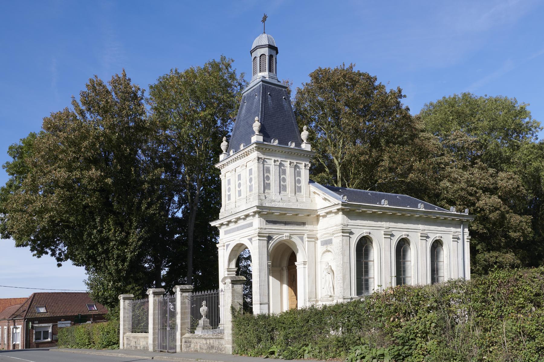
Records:
{"label": "green and brownish tree foliage at far right, beyond chapel's rear end", "polygon": [[452,154],[438,205],[468,207],[472,269],[542,263],[542,128],[515,98],[462,93],[426,104],[425,130]]}

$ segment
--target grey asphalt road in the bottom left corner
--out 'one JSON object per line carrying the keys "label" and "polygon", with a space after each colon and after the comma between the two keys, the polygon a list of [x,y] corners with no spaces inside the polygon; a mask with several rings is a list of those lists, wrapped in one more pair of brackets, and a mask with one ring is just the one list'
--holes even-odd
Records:
{"label": "grey asphalt road in the bottom left corner", "polygon": [[132,362],[146,361],[134,357],[110,357],[96,354],[63,353],[54,350],[15,350],[1,351],[0,361],[2,362]]}

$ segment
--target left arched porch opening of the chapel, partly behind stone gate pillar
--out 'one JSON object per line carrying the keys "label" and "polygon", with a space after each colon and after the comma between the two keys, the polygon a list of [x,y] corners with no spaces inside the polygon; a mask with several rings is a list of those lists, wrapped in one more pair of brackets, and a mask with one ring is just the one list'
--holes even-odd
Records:
{"label": "left arched porch opening of the chapel, partly behind stone gate pillar", "polygon": [[234,245],[228,253],[226,275],[241,275],[244,283],[244,311],[253,312],[253,266],[250,246],[244,243]]}

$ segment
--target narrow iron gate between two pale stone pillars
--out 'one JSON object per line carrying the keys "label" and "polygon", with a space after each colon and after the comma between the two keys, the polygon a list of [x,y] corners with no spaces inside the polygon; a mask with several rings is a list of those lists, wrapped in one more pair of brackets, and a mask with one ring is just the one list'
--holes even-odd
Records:
{"label": "narrow iron gate between two pale stone pillars", "polygon": [[176,296],[165,294],[158,300],[158,350],[176,352]]}

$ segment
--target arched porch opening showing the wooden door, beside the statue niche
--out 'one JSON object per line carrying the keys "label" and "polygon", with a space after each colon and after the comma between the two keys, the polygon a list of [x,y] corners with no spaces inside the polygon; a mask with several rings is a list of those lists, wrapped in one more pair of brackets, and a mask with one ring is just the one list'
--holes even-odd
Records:
{"label": "arched porch opening showing the wooden door, beside the statue niche", "polygon": [[275,240],[270,245],[270,312],[280,313],[304,306],[304,251],[294,240]]}

